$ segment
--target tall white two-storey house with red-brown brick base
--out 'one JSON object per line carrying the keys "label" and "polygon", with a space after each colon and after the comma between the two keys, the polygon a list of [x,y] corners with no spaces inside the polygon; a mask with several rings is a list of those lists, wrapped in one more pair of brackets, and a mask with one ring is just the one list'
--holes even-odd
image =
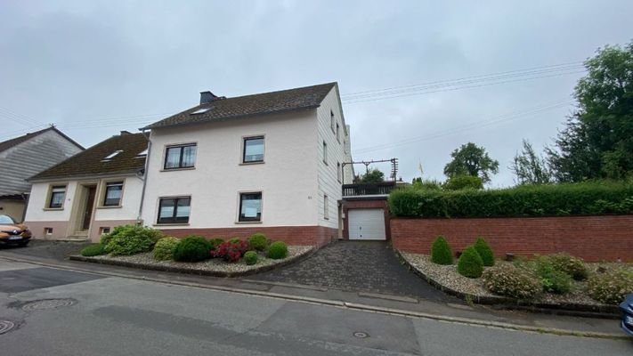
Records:
{"label": "tall white two-storey house with red-brown brick base", "polygon": [[[172,236],[324,245],[342,236],[342,182],[352,182],[337,83],[200,104],[150,130],[142,220]],[[39,204],[40,208],[42,203]]]}

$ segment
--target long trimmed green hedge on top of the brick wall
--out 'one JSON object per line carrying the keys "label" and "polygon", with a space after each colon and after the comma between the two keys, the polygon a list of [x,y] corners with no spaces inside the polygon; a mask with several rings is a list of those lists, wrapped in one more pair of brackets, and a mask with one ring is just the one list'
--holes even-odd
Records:
{"label": "long trimmed green hedge on top of the brick wall", "polygon": [[501,190],[394,190],[395,216],[500,217],[633,214],[633,184],[583,182]]}

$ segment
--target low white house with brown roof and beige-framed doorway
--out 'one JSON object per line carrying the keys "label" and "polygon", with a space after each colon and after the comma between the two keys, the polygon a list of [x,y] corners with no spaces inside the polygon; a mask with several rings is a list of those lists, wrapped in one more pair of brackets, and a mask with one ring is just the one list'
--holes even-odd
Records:
{"label": "low white house with brown roof and beige-framed doorway", "polygon": [[90,238],[139,223],[147,155],[143,134],[126,131],[29,179],[26,223],[36,238]]}

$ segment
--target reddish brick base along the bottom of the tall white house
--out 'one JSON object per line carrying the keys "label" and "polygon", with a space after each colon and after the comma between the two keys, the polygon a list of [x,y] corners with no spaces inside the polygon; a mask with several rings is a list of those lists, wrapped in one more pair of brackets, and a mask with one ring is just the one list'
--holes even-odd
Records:
{"label": "reddish brick base along the bottom of the tall white house", "polygon": [[202,235],[207,239],[239,238],[248,239],[252,234],[262,232],[268,239],[284,241],[288,245],[324,246],[337,239],[337,229],[323,226],[248,226],[239,228],[208,228],[208,229],[169,229],[163,230],[167,236],[183,238],[187,235]]}

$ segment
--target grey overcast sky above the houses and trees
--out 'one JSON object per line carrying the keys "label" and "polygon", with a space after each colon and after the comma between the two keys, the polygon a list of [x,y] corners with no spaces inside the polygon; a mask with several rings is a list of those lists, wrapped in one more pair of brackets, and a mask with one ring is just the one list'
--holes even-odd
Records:
{"label": "grey overcast sky above the houses and trees", "polygon": [[443,180],[450,151],[475,142],[499,160],[491,186],[511,185],[522,139],[540,150],[573,109],[582,73],[548,66],[628,43],[633,1],[510,3],[0,0],[0,140],[55,123],[87,147],[200,91],[337,81],[354,159],[399,158],[406,181],[421,162]]}

